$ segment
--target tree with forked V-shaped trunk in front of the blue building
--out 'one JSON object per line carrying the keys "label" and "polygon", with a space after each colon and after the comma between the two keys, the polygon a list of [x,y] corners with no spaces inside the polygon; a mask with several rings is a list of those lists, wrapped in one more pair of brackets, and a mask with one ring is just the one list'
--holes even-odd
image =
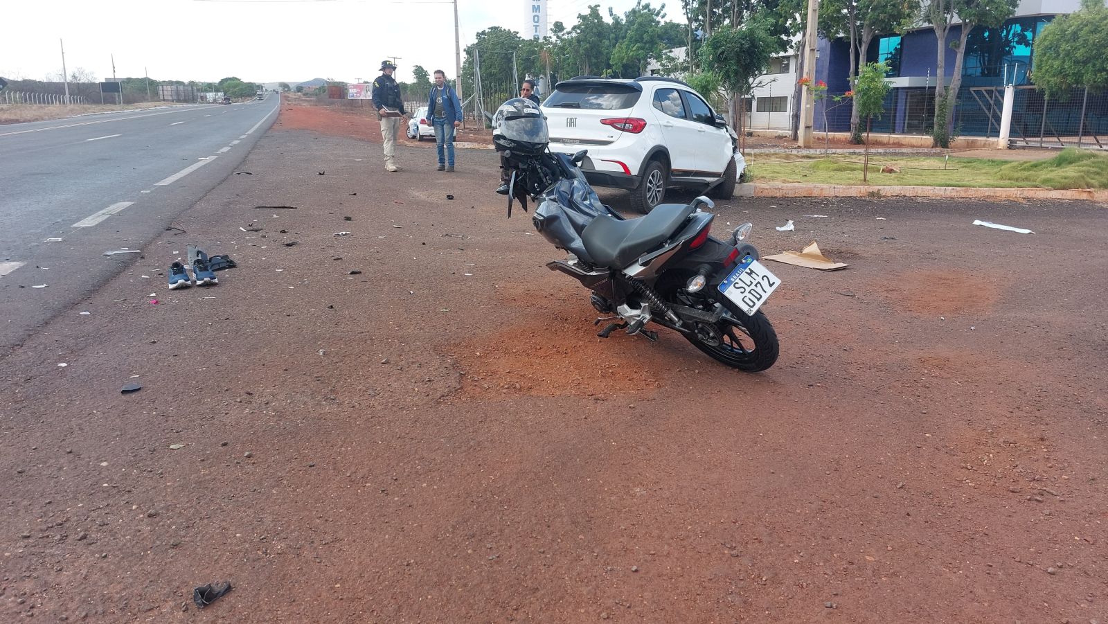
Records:
{"label": "tree with forked V-shaped trunk in front of the blue building", "polygon": [[[965,62],[966,39],[976,25],[996,28],[1016,12],[1019,0],[921,0],[921,14],[931,22],[938,41],[938,57],[935,61],[935,119],[932,137],[940,147],[951,146],[954,125],[954,105],[962,86],[962,64]],[[1102,6],[1102,4],[1101,4]],[[955,48],[954,72],[946,86],[946,38],[954,22],[961,20]]]}

